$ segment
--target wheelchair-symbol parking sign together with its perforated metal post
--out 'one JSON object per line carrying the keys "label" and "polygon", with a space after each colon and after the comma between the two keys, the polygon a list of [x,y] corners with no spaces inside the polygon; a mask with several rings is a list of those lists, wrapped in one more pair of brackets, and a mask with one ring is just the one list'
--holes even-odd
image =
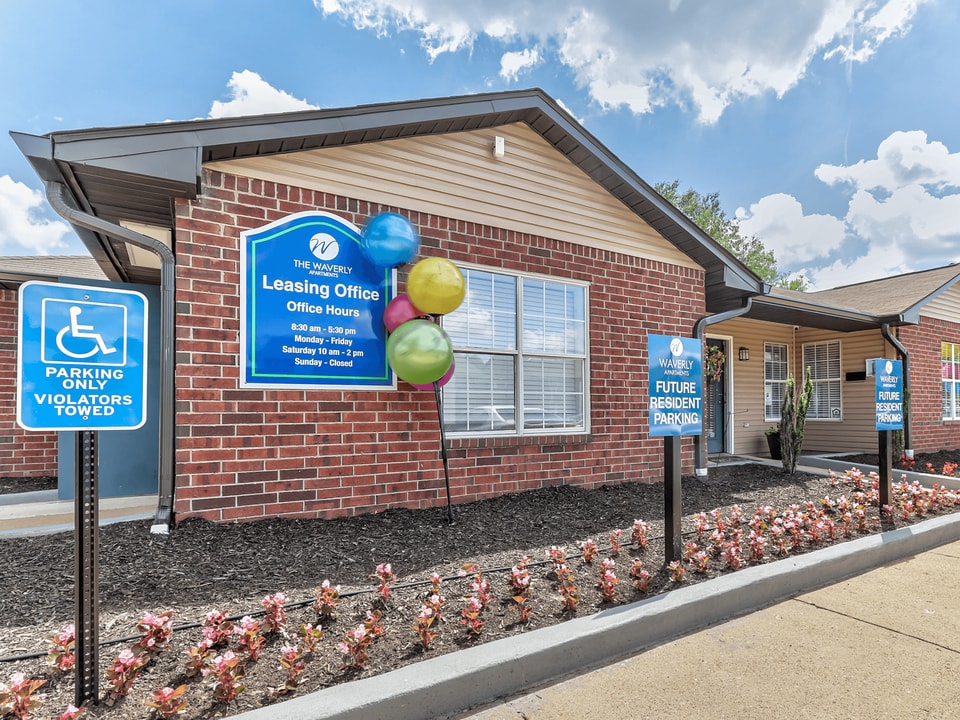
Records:
{"label": "wheelchair-symbol parking sign together with its perforated metal post", "polygon": [[77,433],[74,458],[76,705],[99,701],[97,431],[147,417],[147,299],[138,292],[28,282],[19,291],[17,423]]}

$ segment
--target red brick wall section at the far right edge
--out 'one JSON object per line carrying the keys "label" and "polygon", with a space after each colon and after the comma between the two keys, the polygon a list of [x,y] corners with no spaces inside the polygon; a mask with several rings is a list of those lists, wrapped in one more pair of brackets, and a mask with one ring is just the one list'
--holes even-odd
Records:
{"label": "red brick wall section at the far right edge", "polygon": [[910,352],[911,444],[916,452],[960,448],[960,420],[944,420],[940,375],[941,343],[960,343],[960,324],[922,317],[899,328]]}

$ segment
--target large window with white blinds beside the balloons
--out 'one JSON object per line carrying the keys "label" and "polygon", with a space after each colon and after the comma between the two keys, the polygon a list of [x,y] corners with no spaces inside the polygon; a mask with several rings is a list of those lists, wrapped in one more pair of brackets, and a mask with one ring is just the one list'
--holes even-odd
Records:
{"label": "large window with white blinds beside the balloons", "polygon": [[443,391],[453,433],[585,428],[586,288],[465,269],[464,302],[443,318],[456,368]]}

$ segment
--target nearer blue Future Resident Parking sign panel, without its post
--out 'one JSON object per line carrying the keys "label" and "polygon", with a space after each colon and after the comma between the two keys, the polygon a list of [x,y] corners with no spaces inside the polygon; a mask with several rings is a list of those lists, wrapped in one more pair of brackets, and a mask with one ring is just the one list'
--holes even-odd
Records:
{"label": "nearer blue Future Resident Parking sign panel, without its post", "polygon": [[703,357],[700,341],[649,335],[650,434],[703,432]]}

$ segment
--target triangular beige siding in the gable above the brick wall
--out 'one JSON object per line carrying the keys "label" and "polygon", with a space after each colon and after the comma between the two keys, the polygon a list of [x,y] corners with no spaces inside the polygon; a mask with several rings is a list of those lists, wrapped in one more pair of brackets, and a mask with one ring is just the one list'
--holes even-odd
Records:
{"label": "triangular beige siding in the gable above the brick wall", "polygon": [[[493,156],[498,135],[503,158]],[[698,267],[522,123],[206,167]]]}

